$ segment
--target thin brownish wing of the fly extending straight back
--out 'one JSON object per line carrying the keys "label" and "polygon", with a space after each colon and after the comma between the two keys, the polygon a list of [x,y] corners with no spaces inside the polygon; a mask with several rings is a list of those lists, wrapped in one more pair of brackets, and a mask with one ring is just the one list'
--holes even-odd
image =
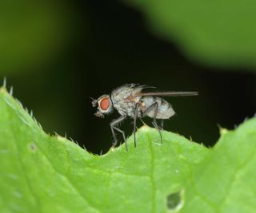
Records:
{"label": "thin brownish wing of the fly extending straight back", "polygon": [[157,97],[192,97],[197,96],[198,92],[150,92],[150,93],[135,93],[135,97],[149,97],[149,96],[157,96]]}

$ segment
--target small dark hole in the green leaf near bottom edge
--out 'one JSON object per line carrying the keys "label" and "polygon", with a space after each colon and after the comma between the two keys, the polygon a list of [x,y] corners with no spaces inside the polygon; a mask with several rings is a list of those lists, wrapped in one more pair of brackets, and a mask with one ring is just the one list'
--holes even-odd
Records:
{"label": "small dark hole in the green leaf near bottom edge", "polygon": [[178,191],[167,195],[166,206],[170,212],[180,210],[184,203],[183,191]]}

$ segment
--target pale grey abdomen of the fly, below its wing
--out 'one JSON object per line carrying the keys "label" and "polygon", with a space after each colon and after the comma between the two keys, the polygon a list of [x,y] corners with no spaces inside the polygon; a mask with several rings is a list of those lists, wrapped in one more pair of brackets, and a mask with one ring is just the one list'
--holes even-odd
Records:
{"label": "pale grey abdomen of the fly, below its wing", "polygon": [[[146,112],[145,116],[150,116],[152,118],[154,117],[156,108],[151,107],[154,105],[154,103],[158,103],[158,112],[156,116],[157,119],[168,119],[175,114],[174,109],[171,107],[170,103],[161,97],[142,97],[140,102],[142,114],[143,112]],[[150,109],[146,111],[147,108]]]}

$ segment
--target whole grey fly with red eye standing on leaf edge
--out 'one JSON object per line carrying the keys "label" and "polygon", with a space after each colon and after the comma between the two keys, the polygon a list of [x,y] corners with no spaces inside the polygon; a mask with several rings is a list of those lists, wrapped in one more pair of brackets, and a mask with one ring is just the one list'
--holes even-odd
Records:
{"label": "whole grey fly with red eye standing on leaf edge", "polygon": [[[113,147],[118,143],[115,131],[122,133],[123,140],[126,143],[125,132],[117,126],[128,116],[134,119],[134,147],[136,147],[136,122],[138,118],[145,116],[153,118],[154,127],[158,130],[162,142],[162,134],[158,127],[157,119],[161,120],[163,128],[163,121],[175,114],[170,103],[162,97],[187,97],[198,95],[198,92],[142,92],[142,89],[146,88],[154,87],[126,84],[114,89],[110,95],[102,95],[92,101],[93,107],[98,107],[97,112],[94,114],[95,116],[103,118],[105,115],[113,112],[114,109],[120,114],[118,119],[110,123],[111,132],[114,137]],[[128,150],[127,143],[126,150]]]}

